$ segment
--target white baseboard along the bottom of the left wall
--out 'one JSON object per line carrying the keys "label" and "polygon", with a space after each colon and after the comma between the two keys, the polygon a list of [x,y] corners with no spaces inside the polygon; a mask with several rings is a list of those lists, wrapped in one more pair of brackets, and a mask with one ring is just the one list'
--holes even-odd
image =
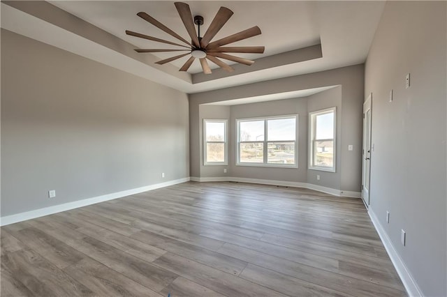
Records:
{"label": "white baseboard along the bottom of the left wall", "polygon": [[155,190],[159,188],[168,187],[169,185],[176,185],[177,183],[185,183],[189,181],[190,178],[180,178],[174,181],[166,181],[165,183],[156,183],[154,185],[146,185],[145,187],[135,188],[131,190],[124,190],[120,192],[115,192],[107,195],[102,195],[98,197],[82,199],[79,201],[68,202],[64,204],[59,204],[55,206],[49,206],[45,208],[39,208],[34,211],[27,211],[24,213],[17,213],[15,215],[6,215],[5,217],[0,218],[0,226],[6,226],[7,224],[14,224],[16,222],[22,222],[24,220],[31,220],[34,218],[40,218],[45,215],[52,215],[53,213],[60,213],[61,211],[69,211],[73,208],[79,208],[82,206],[87,206],[91,204],[96,204],[103,201],[108,201],[112,199],[118,199],[122,197],[126,197],[129,195],[135,195],[142,192],[147,192],[150,190]]}

